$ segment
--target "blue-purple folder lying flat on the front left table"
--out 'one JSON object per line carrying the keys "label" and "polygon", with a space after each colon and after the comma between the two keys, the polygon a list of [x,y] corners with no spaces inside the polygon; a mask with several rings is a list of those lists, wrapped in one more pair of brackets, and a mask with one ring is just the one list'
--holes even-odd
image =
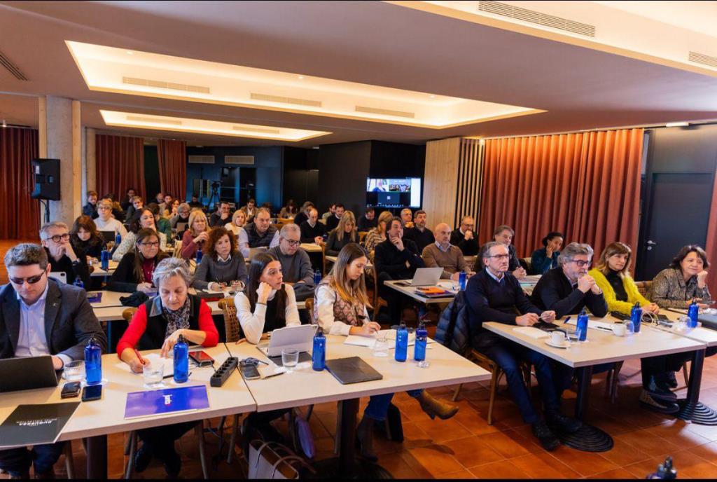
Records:
{"label": "blue-purple folder lying flat on the front left table", "polygon": [[204,408],[209,408],[206,385],[132,392],[127,394],[125,418],[189,412]]}

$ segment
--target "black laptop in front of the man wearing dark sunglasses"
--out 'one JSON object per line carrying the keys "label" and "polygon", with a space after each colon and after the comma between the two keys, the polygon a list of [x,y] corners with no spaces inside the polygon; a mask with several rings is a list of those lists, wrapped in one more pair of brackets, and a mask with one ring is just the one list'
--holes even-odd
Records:
{"label": "black laptop in front of the man wearing dark sunglasses", "polygon": [[0,393],[57,387],[57,376],[49,355],[0,360]]}

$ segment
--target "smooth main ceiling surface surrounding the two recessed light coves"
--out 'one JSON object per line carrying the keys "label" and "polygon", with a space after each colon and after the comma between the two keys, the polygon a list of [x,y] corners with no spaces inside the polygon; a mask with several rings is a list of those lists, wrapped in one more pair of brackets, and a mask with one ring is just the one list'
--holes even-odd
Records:
{"label": "smooth main ceiling surface surrounding the two recessed light coves", "polygon": [[[715,2],[709,3],[703,16],[713,14]],[[107,128],[99,110],[332,132],[292,144],[304,147],[717,118],[717,77],[383,2],[1,1],[0,32],[0,50],[29,79],[16,80],[0,68],[0,117],[32,126],[37,101],[16,94],[82,100],[82,121],[90,127],[203,145],[276,142]],[[95,92],[87,89],[65,40],[547,112],[435,130]]]}

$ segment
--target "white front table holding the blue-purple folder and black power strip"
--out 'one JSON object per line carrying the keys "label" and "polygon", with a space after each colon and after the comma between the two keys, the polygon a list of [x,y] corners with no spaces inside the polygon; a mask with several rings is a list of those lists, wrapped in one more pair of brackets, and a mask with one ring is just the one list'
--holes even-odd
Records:
{"label": "white front table holding the blue-purple folder and black power strip", "polygon": [[[214,366],[220,367],[229,356],[223,344],[214,348],[204,349],[214,358]],[[158,352],[158,350],[142,353]],[[171,359],[165,361],[165,371],[171,372]],[[169,368],[167,368],[167,365]],[[159,427],[180,422],[204,420],[239,413],[254,412],[256,402],[241,374],[233,373],[222,387],[210,387],[209,378],[214,374],[212,367],[190,368],[191,376],[186,384],[176,385],[171,379],[166,380],[166,388],[204,384],[209,397],[209,408],[176,414],[156,415],[151,417],[125,420],[125,402],[127,394],[146,390],[143,387],[142,374],[130,372],[127,364],[118,359],[116,354],[102,357],[103,385],[101,400],[81,402],[67,425],[62,428],[58,440],[75,440],[87,438],[87,478],[107,478],[107,435],[128,432],[141,428]],[[24,390],[0,394],[0,420],[6,417],[20,404],[62,402],[60,391],[64,380],[54,388]],[[66,399],[68,402],[80,401],[79,398]],[[130,463],[132,461],[130,460]]]}

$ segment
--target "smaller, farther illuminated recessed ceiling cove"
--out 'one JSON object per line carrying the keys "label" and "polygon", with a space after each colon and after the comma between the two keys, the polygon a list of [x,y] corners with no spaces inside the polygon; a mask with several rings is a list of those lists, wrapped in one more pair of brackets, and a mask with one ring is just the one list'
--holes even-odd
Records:
{"label": "smaller, farther illuminated recessed ceiling cove", "polygon": [[108,126],[151,129],[153,131],[191,132],[215,136],[248,137],[272,141],[298,142],[326,136],[326,134],[331,133],[284,127],[255,126],[236,122],[168,117],[167,115],[118,112],[116,110],[100,110],[100,114],[102,114],[102,118]]}

